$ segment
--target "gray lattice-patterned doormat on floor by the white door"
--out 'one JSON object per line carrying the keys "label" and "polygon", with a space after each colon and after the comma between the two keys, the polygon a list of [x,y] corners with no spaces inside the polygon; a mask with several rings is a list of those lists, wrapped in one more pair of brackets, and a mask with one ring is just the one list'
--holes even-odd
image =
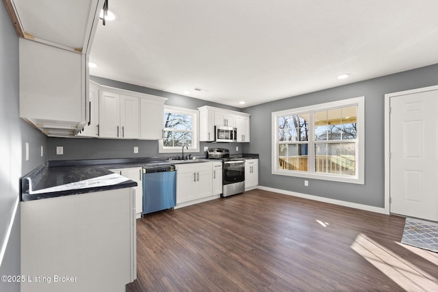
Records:
{"label": "gray lattice-patterned doormat on floor by the white door", "polygon": [[438,252],[438,222],[406,218],[402,243]]}

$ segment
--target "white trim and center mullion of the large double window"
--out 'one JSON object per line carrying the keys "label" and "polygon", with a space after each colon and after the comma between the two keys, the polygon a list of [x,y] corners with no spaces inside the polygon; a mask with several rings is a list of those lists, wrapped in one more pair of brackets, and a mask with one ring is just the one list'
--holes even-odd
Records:
{"label": "white trim and center mullion of the large double window", "polygon": [[[357,143],[356,143],[356,175],[347,176],[342,174],[326,174],[315,172],[314,163],[309,163],[307,172],[300,172],[294,170],[279,170],[279,148],[278,148],[278,117],[285,114],[310,114],[309,120],[309,142],[308,142],[308,157],[309,161],[314,161],[315,157],[315,137],[314,137],[314,113],[315,111],[322,111],[328,109],[335,109],[339,107],[357,106]],[[296,109],[285,109],[283,111],[272,112],[272,174],[283,176],[296,176],[300,178],[314,178],[324,181],[336,181],[340,183],[355,183],[365,184],[365,96],[356,98],[348,98],[340,101],[333,101],[329,103],[320,103],[317,105],[309,105],[306,107],[298,107]],[[337,141],[336,141],[337,142]],[[347,141],[346,141],[347,142]]]}

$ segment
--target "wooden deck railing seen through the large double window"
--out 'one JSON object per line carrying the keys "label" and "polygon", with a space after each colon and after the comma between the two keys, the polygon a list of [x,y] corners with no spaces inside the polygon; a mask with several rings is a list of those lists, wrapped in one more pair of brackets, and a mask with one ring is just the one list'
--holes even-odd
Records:
{"label": "wooden deck railing seen through the large double window", "polygon": [[[279,157],[279,170],[307,172],[307,155]],[[315,172],[329,174],[356,174],[356,160],[352,155],[315,156]]]}

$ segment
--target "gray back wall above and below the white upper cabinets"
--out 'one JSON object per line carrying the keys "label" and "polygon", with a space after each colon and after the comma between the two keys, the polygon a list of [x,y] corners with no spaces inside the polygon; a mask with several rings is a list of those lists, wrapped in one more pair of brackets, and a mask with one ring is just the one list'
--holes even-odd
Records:
{"label": "gray back wall above and below the white upper cabinets", "polygon": [[[237,107],[230,107],[221,105],[219,103],[211,103],[203,101],[198,98],[191,98],[179,94],[172,94],[170,92],[163,92],[151,88],[144,88],[142,86],[123,83],[101,77],[91,76],[90,79],[101,85],[111,86],[114,88],[121,88],[135,92],[142,92],[146,94],[153,94],[168,98],[166,105],[176,107],[185,107],[188,109],[197,109],[203,105],[210,105],[212,107],[221,107],[224,109],[231,109],[234,111],[241,111]],[[157,121],[162,122],[162,121]],[[64,147],[64,155],[56,155],[56,146]],[[133,147],[138,146],[138,154],[133,153]],[[242,153],[242,143],[200,143],[201,152],[192,153],[196,156],[205,156],[203,151],[204,146],[209,148],[228,148],[230,152]],[[236,150],[236,146],[239,150]],[[136,158],[136,157],[173,157],[180,154],[179,152],[172,153],[158,153],[157,141],[144,140],[111,140],[111,139],[87,139],[87,138],[55,138],[48,139],[48,155],[51,160],[70,160],[70,159],[105,159],[105,158]],[[185,152],[190,154],[190,152]]]}

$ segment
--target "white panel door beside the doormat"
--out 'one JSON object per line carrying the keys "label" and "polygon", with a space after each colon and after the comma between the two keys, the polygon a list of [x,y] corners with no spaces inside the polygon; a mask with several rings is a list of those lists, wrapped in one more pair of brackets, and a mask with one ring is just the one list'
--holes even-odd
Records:
{"label": "white panel door beside the doormat", "polygon": [[390,106],[391,213],[438,221],[438,90]]}

